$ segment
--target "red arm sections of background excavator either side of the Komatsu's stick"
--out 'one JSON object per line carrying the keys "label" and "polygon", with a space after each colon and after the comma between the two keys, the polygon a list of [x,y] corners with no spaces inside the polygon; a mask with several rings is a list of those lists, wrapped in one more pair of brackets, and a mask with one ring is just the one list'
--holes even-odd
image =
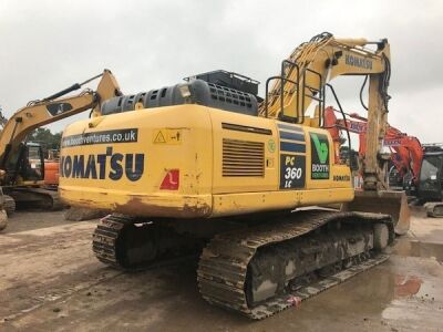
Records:
{"label": "red arm sections of background excavator either side of the Komatsu's stick", "polygon": [[[339,111],[332,106],[324,108],[324,127],[329,129],[336,145],[336,162],[341,159],[340,152],[343,147],[343,136],[341,134],[346,131],[358,134],[359,162],[356,165],[356,172],[359,173],[359,165],[363,164],[367,153],[368,120],[357,113],[346,114],[346,118],[338,118],[336,113],[339,113]],[[389,176],[389,187],[401,187],[401,189],[408,189],[411,193],[414,191],[419,183],[420,167],[423,159],[423,147],[419,138],[410,136],[388,124],[383,146],[390,151],[390,163],[387,166],[392,164],[392,167],[388,167],[389,172],[387,174]],[[393,174],[395,176],[392,176]]]}

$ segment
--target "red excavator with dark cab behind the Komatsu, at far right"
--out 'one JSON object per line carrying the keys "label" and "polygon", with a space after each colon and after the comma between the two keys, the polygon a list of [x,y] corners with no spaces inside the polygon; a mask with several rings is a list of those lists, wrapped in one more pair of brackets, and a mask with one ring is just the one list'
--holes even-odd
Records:
{"label": "red excavator with dark cab behind the Komatsu, at far right", "polygon": [[[357,163],[352,163],[357,174],[365,156],[365,135],[368,120],[356,113],[346,114],[338,118],[339,111],[331,106],[324,108],[324,127],[328,128],[336,145],[336,162],[343,162],[342,132],[359,135],[359,151]],[[387,125],[383,146],[390,149],[389,187],[404,189],[411,198],[424,204],[430,217],[443,217],[443,144],[421,144],[419,138],[402,133],[395,127]],[[348,151],[346,159],[349,158]],[[352,153],[352,151],[351,151]],[[358,181],[356,181],[358,183]]]}

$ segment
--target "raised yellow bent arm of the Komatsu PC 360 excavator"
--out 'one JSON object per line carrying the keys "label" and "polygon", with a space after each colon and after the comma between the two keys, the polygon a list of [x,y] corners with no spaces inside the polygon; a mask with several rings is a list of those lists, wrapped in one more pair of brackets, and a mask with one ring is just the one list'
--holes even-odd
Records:
{"label": "raised yellow bent arm of the Komatsu PC 360 excavator", "polygon": [[[369,46],[375,45],[375,50]],[[383,39],[370,42],[365,39],[334,39],[322,33],[298,46],[281,65],[281,74],[268,79],[275,84],[260,105],[260,114],[267,117],[319,126],[324,108],[326,93],[337,100],[328,83],[340,75],[369,76],[367,156],[363,165],[364,188],[385,189],[378,154],[384,137],[388,113],[388,85],[390,79],[390,45]],[[315,122],[306,113],[318,102]],[[338,100],[337,100],[338,101]],[[340,105],[339,101],[338,104]]]}

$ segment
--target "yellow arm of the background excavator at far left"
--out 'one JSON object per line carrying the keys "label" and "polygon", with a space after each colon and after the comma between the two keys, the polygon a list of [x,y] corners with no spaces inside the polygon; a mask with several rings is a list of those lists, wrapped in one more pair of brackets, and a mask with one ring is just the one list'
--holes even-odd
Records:
{"label": "yellow arm of the background excavator at far left", "polygon": [[[61,97],[92,80],[101,77],[96,91],[84,90],[78,95]],[[101,102],[121,95],[119,84],[109,70],[83,83],[76,83],[47,98],[30,102],[16,112],[0,133],[0,169],[6,169],[11,153],[33,129],[92,108],[92,116],[100,115]]]}

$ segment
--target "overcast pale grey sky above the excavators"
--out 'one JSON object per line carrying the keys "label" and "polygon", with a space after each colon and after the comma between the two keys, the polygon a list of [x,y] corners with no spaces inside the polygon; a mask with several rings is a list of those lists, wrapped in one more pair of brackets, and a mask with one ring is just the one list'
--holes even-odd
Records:
{"label": "overcast pale grey sky above the excavators", "polygon": [[[388,38],[390,124],[422,143],[443,142],[439,0],[0,0],[0,105],[9,117],[29,101],[103,69],[112,70],[125,94],[217,69],[265,83],[297,45],[323,31],[337,38]],[[344,111],[364,115],[361,81],[331,83]],[[48,127],[59,132],[87,115]]]}

